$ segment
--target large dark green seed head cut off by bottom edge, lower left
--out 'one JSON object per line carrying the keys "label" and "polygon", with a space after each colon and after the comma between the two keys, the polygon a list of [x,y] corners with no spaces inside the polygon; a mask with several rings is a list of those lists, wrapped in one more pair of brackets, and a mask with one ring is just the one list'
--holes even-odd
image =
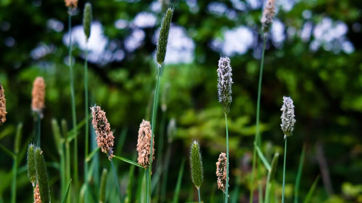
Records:
{"label": "large dark green seed head cut off by bottom edge, lower left", "polygon": [[34,151],[35,168],[37,170],[37,184],[39,184],[39,194],[43,203],[50,203],[50,190],[48,171],[45,166],[43,151],[40,147],[36,147]]}

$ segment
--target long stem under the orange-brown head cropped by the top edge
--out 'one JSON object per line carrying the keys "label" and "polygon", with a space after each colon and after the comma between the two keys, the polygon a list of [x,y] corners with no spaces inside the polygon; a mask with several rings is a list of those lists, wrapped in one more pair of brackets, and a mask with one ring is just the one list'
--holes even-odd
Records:
{"label": "long stem under the orange-brown head cropped by the top edge", "polygon": [[77,118],[75,114],[75,93],[74,93],[74,77],[73,77],[73,64],[72,64],[72,15],[68,14],[68,30],[69,30],[69,78],[70,78],[70,92],[72,98],[72,120],[73,120],[73,133],[74,133],[74,150],[73,150],[73,179],[74,179],[74,193],[78,201],[78,139],[77,139]]}

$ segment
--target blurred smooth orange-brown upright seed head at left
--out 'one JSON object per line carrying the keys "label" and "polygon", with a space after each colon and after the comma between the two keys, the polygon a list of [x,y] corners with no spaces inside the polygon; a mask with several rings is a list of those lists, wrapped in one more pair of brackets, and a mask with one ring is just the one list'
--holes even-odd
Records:
{"label": "blurred smooth orange-brown upright seed head at left", "polygon": [[45,82],[43,77],[35,78],[31,95],[33,96],[31,100],[31,109],[34,112],[39,113],[42,117],[45,101]]}

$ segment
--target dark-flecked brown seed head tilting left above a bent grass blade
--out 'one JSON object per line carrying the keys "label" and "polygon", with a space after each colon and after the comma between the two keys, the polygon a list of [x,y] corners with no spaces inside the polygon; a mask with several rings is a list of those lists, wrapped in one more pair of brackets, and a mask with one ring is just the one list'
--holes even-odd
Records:
{"label": "dark-flecked brown seed head tilting left above a bent grass blade", "polygon": [[94,105],[90,108],[92,110],[92,125],[96,130],[96,140],[98,147],[102,152],[108,155],[108,159],[111,160],[113,155],[113,132],[111,131],[110,124],[106,118],[106,112],[101,110],[101,107]]}

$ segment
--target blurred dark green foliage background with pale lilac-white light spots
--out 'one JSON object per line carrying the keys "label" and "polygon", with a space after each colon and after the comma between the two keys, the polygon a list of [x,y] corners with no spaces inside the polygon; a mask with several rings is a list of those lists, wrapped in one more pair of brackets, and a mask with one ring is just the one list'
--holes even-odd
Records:
{"label": "blurred dark green foliage background with pale lilac-white light spots", "polygon": [[[94,18],[88,44],[91,104],[101,105],[107,113],[115,143],[127,129],[125,144],[119,150],[122,156],[132,159],[139,124],[143,118],[150,120],[157,71],[155,44],[163,16],[161,3],[157,0],[89,2]],[[7,121],[0,126],[0,143],[8,149],[13,149],[19,122],[24,125],[23,152],[31,141],[35,129],[30,108],[31,88],[34,78],[42,76],[47,86],[41,145],[47,161],[59,161],[51,119],[59,122],[65,119],[71,127],[67,52],[70,36],[74,43],[77,122],[84,119],[86,43],[81,25],[84,3],[79,1],[69,33],[67,8],[61,0],[0,0],[0,82],[5,89],[8,111]],[[215,162],[219,153],[226,150],[226,133],[217,98],[216,69],[219,57],[228,56],[235,82],[228,115],[230,191],[239,185],[238,202],[248,202],[262,51],[260,19],[265,1],[171,0],[166,3],[173,4],[175,12],[162,67],[154,133],[156,150],[159,135],[165,134],[163,157],[167,140],[172,140],[167,199],[172,199],[181,160],[188,161],[188,147],[193,138],[201,142],[204,159],[202,199],[210,202],[210,194],[222,196],[216,189]],[[296,125],[293,136],[288,139],[286,201],[293,200],[304,145],[301,200],[320,175],[312,202],[362,202],[362,1],[276,0],[276,8],[266,42],[262,81],[262,150],[268,159],[274,152],[283,155],[280,108],[282,97],[291,96]],[[163,119],[165,125],[161,130]],[[177,126],[176,134],[167,133],[170,121]],[[78,152],[81,178],[83,132],[84,128],[79,135]],[[109,168],[105,154],[98,152],[96,157],[100,162],[94,168],[94,177],[99,176],[103,167]],[[156,157],[157,161],[160,160]],[[25,164],[23,157],[20,167]],[[278,194],[281,194],[282,165],[279,159]],[[10,202],[11,168],[11,157],[0,150],[3,202]],[[186,164],[180,202],[197,200],[188,169]],[[125,191],[129,165],[119,163],[118,170],[122,191]],[[49,167],[49,175],[56,202],[59,173]],[[26,171],[18,174],[17,194],[17,202],[31,201],[32,187]]]}

